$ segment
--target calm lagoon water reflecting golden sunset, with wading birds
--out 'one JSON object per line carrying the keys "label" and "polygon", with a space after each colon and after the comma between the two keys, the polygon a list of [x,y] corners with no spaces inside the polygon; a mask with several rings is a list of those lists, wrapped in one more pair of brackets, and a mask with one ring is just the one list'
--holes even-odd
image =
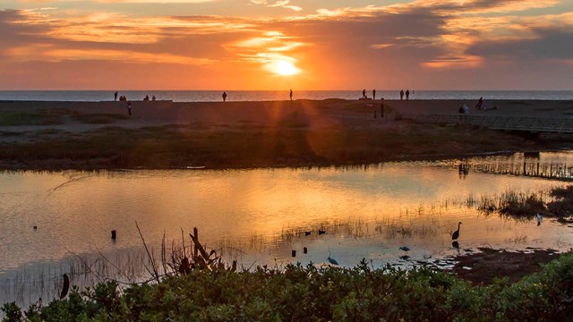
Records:
{"label": "calm lagoon water reflecting golden sunset, with wading birds", "polygon": [[[522,163],[523,155],[467,160]],[[573,162],[542,153],[532,162]],[[547,191],[546,179],[458,173],[459,160],[363,167],[234,171],[16,172],[0,174],[0,288],[65,272],[73,254],[141,256],[141,237],[158,251],[199,228],[200,239],[244,267],[336,258],[353,267],[408,267],[477,247],[569,250],[572,229],[548,218],[485,216],[472,200],[505,191]],[[451,233],[463,222],[459,249]],[[33,226],[37,225],[34,230]],[[327,233],[318,235],[318,229]],[[116,230],[118,238],[110,239]],[[304,231],[312,231],[305,236]],[[398,248],[406,245],[406,253]],[[304,254],[306,247],[308,253]],[[296,257],[291,251],[296,250]],[[97,257],[97,255],[94,255]],[[129,260],[137,256],[128,255]],[[44,267],[44,268],[42,268]],[[46,268],[48,267],[48,268]],[[23,272],[23,273],[22,273]],[[11,281],[12,279],[12,281]],[[14,294],[0,292],[0,302]],[[26,301],[26,300],[24,300]]]}

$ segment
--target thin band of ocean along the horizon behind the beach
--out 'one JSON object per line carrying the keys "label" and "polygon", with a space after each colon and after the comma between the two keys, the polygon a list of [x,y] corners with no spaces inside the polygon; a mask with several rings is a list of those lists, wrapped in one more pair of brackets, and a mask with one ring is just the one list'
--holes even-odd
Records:
{"label": "thin band of ocean along the horizon behind the beach", "polygon": [[[406,89],[405,89],[406,90]],[[218,102],[222,90],[118,90],[118,97],[125,95],[130,100],[140,100],[146,95],[158,100],[174,102]],[[288,90],[227,90],[227,101],[273,101],[286,100]],[[372,89],[366,91],[372,97]],[[357,99],[359,90],[295,90],[294,99]],[[376,98],[399,99],[399,90],[378,90]],[[415,90],[410,89],[410,99],[517,99],[517,100],[569,100],[573,90]],[[114,99],[113,90],[0,90],[0,100],[33,101],[109,101]]]}

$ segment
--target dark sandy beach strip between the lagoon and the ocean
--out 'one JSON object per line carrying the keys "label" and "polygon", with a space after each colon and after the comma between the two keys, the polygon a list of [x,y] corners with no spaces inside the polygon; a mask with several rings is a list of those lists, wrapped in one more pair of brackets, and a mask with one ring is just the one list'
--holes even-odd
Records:
{"label": "dark sandy beach strip between the lagoon and the ocean", "polygon": [[[485,100],[470,114],[571,117],[573,101]],[[415,123],[459,100],[209,102],[0,101],[4,169],[251,168],[570,148],[573,136]],[[383,110],[383,111],[382,111]],[[383,115],[381,113],[383,112]]]}

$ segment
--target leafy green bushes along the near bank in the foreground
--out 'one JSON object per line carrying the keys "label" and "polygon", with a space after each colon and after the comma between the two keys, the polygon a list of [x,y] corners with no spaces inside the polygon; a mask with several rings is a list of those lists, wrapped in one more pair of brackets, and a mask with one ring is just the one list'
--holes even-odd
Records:
{"label": "leafy green bushes along the near bank in the foreground", "polygon": [[472,286],[429,268],[210,267],[158,284],[98,284],[4,321],[563,321],[573,314],[573,255],[516,284]]}

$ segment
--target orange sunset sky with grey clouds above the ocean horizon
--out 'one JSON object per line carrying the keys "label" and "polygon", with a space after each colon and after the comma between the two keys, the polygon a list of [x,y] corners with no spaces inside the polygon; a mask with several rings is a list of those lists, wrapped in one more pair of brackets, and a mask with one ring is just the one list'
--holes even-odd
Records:
{"label": "orange sunset sky with grey clouds above the ocean horizon", "polygon": [[0,0],[0,90],[573,89],[571,0]]}

